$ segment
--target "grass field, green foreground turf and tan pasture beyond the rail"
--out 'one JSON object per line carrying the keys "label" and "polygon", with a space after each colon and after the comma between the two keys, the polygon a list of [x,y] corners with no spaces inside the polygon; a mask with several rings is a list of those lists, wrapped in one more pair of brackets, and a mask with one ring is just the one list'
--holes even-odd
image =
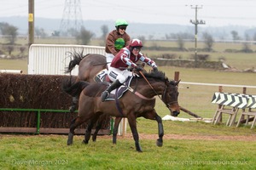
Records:
{"label": "grass field, green foreground turf and tan pasture beyond the rail", "polygon": [[[173,44],[175,45],[175,44]],[[232,45],[232,44],[231,44]],[[230,45],[230,46],[231,46]],[[219,49],[224,48],[219,45]],[[230,48],[230,47],[227,47]],[[236,47],[237,48],[237,47]],[[153,52],[152,52],[153,53]],[[148,53],[149,54],[149,53]],[[188,54],[183,54],[189,56]],[[211,59],[224,55],[229,65],[246,69],[255,67],[254,54],[212,53]],[[242,56],[242,57],[241,57]],[[231,64],[230,64],[231,63]],[[148,67],[147,67],[148,68]],[[27,72],[27,60],[0,59],[1,69]],[[148,68],[149,69],[149,68]],[[213,71],[162,66],[169,78],[179,71],[182,82],[205,82],[255,86],[255,73]],[[180,83],[179,104],[195,114],[212,118],[218,105],[211,103],[218,86]],[[223,87],[224,92],[242,93],[242,88]],[[256,94],[256,88],[247,88]],[[157,99],[156,111],[169,115],[166,106]],[[192,117],[181,112],[179,117]],[[224,121],[227,119],[224,116]],[[118,137],[113,145],[111,136],[99,136],[96,143],[81,144],[83,136],[75,136],[67,146],[67,135],[0,134],[1,169],[255,169],[256,127],[226,127],[206,122],[164,123],[164,145],[157,147],[157,123],[137,119],[143,153],[137,153],[131,130]]]}

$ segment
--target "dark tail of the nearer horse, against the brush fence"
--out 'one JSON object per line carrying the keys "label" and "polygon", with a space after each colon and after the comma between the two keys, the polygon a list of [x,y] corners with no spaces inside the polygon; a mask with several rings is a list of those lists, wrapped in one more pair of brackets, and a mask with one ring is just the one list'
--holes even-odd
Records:
{"label": "dark tail of the nearer horse, against the brush fence", "polygon": [[72,83],[71,81],[66,80],[62,82],[61,88],[65,93],[75,97],[81,94],[83,89],[88,85],[89,85],[89,82],[80,81],[80,82]]}

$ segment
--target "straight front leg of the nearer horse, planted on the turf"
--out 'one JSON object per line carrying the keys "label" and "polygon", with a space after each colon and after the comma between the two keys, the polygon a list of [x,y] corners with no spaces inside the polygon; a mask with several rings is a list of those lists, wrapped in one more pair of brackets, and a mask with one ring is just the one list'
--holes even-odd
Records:
{"label": "straight front leg of the nearer horse, planted on the turf", "polygon": [[131,133],[133,136],[133,139],[135,140],[135,147],[138,152],[143,152],[141,145],[139,144],[139,136],[137,133],[137,123],[136,123],[136,117],[134,115],[128,116],[128,122],[131,127]]}

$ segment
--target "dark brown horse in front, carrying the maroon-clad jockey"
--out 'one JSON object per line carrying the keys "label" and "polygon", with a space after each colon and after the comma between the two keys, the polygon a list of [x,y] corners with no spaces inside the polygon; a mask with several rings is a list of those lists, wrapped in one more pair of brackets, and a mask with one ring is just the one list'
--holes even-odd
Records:
{"label": "dark brown horse in front, carrying the maroon-clad jockey", "polygon": [[90,140],[91,128],[102,114],[110,116],[127,117],[133,139],[135,140],[136,150],[141,152],[142,148],[139,144],[137,133],[137,117],[143,116],[147,119],[158,122],[159,139],[157,145],[162,146],[164,129],[161,117],[154,110],[156,95],[161,95],[162,101],[171,111],[172,116],[179,114],[179,105],[177,102],[177,84],[178,82],[169,81],[165,74],[161,71],[144,73],[143,77],[135,77],[131,80],[130,89],[133,91],[125,92],[124,96],[115,101],[102,102],[102,91],[107,88],[103,82],[89,83],[76,82],[72,84],[63,84],[63,89],[67,94],[74,95],[74,91],[82,89],[79,96],[79,114],[71,122],[70,131],[68,133],[67,144],[73,144],[74,130],[80,124],[89,122],[84,136],[84,143],[88,144]]}

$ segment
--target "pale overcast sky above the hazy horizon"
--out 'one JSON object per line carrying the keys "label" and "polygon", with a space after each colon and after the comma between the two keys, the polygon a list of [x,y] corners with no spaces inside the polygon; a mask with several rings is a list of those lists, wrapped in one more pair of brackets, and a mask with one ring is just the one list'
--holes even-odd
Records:
{"label": "pale overcast sky above the hazy horizon", "polygon": [[[0,2],[1,17],[28,14],[28,0]],[[34,2],[35,17],[62,18],[66,0]],[[189,20],[195,20],[195,5],[200,7],[198,20],[205,20],[206,26],[256,27],[256,0],[80,0],[83,20],[125,19],[128,22],[177,25],[189,25]]]}

